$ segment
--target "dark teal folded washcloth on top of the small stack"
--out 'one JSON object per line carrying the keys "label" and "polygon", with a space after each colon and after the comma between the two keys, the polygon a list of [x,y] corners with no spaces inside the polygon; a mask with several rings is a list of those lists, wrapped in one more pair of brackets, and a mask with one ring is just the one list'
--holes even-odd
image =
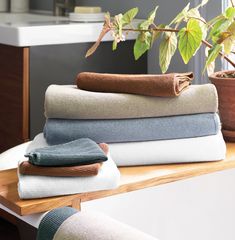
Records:
{"label": "dark teal folded washcloth on top of the small stack", "polygon": [[[74,140],[74,139],[73,139]],[[72,142],[35,149],[25,156],[39,166],[75,166],[103,162],[107,156],[91,139],[81,138]]]}

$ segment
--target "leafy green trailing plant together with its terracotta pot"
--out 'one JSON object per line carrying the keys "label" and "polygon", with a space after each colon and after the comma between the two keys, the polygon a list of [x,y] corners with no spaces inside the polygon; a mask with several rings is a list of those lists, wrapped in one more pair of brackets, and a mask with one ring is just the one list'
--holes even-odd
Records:
{"label": "leafy green trailing plant together with its terracotta pot", "polygon": [[196,54],[198,49],[206,46],[205,70],[209,79],[215,84],[219,95],[219,112],[222,120],[222,130],[226,140],[235,141],[235,71],[214,72],[215,60],[221,56],[233,67],[235,62],[230,59],[235,47],[235,6],[231,0],[231,6],[225,12],[206,21],[200,14],[200,8],[209,0],[202,2],[193,8],[190,3],[169,23],[155,24],[158,6],[149,14],[148,18],[137,26],[133,20],[138,13],[138,8],[132,8],[124,14],[118,14],[113,18],[107,13],[103,29],[97,42],[87,51],[86,57],[92,55],[99,46],[102,38],[111,32],[113,50],[118,43],[125,40],[126,34],[136,32],[134,44],[134,57],[138,60],[146,53],[153,43],[160,39],[159,65],[165,73],[177,48],[185,64]]}

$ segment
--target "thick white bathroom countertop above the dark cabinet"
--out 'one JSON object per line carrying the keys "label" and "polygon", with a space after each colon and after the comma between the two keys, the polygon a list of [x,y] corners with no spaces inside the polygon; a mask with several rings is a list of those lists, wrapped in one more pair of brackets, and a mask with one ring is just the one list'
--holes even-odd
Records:
{"label": "thick white bathroom countertop above the dark cabinet", "polygon": [[[77,23],[67,17],[0,13],[0,44],[17,47],[95,42],[103,22]],[[129,33],[127,40],[135,39]],[[112,41],[107,34],[103,41]]]}

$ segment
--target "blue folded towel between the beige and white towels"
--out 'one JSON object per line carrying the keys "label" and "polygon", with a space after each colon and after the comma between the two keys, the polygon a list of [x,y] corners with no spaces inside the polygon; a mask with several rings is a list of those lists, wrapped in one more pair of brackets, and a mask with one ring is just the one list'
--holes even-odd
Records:
{"label": "blue folded towel between the beige and white towels", "polygon": [[95,142],[135,142],[214,135],[220,129],[217,114],[121,120],[47,119],[44,134],[49,144],[91,138]]}

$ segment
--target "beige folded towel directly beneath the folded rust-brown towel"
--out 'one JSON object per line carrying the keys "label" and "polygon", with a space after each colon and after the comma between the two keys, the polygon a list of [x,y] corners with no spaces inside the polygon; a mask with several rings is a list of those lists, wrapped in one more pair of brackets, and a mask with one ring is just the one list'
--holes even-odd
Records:
{"label": "beige folded towel directly beneath the folded rust-brown towel", "polygon": [[64,119],[121,119],[217,112],[213,84],[191,85],[178,98],[100,93],[75,85],[51,85],[45,94],[45,116]]}

